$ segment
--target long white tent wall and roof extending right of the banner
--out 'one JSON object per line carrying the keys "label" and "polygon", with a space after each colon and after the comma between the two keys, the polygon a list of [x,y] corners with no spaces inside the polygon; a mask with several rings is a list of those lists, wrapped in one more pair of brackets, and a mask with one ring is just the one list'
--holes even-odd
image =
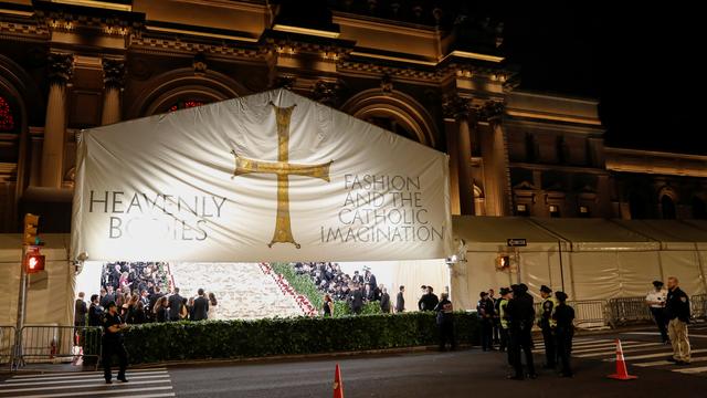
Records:
{"label": "long white tent wall and roof extending right of the banner", "polygon": [[[677,276],[688,294],[706,292],[707,229],[699,222],[603,219],[457,217],[456,239],[466,243],[455,265],[457,303],[471,308],[479,291],[521,281],[537,293],[542,284],[572,300],[639,296],[654,280]],[[515,252],[510,238],[527,239]],[[560,261],[560,251],[561,261]],[[509,254],[510,270],[497,270]]]}

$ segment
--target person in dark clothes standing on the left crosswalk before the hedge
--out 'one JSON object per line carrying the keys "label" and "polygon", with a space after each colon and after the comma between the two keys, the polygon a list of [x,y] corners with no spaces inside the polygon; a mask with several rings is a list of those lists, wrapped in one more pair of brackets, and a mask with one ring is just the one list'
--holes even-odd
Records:
{"label": "person in dark clothes standing on the left crosswalk before the hedge", "polygon": [[123,344],[123,329],[128,326],[120,320],[117,308],[115,302],[108,303],[108,311],[103,320],[103,375],[106,384],[113,383],[110,380],[110,362],[114,355],[118,356],[118,380],[123,383],[128,381],[125,377],[125,369],[128,366],[128,353],[125,350],[125,345]]}

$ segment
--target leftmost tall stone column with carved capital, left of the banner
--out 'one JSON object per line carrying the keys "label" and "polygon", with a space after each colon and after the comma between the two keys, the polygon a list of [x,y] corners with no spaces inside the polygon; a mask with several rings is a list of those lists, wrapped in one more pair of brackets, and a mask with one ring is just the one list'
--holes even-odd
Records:
{"label": "leftmost tall stone column with carved capital, left of the banner", "polygon": [[42,143],[42,187],[61,188],[66,136],[66,84],[73,73],[72,54],[49,55],[49,98]]}

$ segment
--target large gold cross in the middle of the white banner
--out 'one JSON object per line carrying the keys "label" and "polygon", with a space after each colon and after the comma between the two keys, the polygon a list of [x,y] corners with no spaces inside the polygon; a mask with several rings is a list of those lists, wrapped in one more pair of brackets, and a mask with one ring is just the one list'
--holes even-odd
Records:
{"label": "large gold cross in the middle of the white banner", "polygon": [[289,220],[289,176],[303,176],[319,178],[329,182],[329,166],[334,160],[320,165],[298,165],[291,164],[289,160],[289,121],[295,105],[289,107],[278,107],[272,102],[275,109],[275,121],[277,122],[277,161],[262,161],[240,157],[235,150],[231,154],[235,156],[235,170],[231,178],[251,174],[264,172],[277,176],[277,218],[275,220],[275,231],[273,239],[267,244],[272,248],[274,243],[292,243],[299,249],[302,245],[295,242],[292,235],[292,223]]}

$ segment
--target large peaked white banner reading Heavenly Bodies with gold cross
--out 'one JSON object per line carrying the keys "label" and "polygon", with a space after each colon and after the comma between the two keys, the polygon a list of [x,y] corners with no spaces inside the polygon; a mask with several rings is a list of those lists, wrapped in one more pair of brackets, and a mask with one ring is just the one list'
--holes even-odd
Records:
{"label": "large peaked white banner reading Heavenly Bodies with gold cross", "polygon": [[284,90],[84,130],[75,189],[74,258],[451,253],[446,155]]}

